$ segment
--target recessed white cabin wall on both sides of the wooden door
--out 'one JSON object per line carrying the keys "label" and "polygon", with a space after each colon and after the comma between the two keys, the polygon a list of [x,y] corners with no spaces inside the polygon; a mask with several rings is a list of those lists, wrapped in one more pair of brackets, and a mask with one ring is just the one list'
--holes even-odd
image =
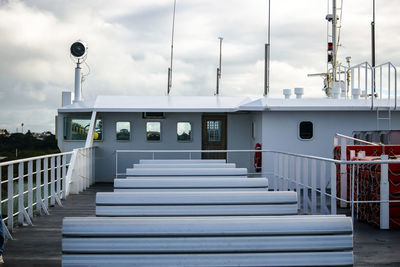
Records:
{"label": "recessed white cabin wall on both sides of the wooden door", "polygon": [[[82,147],[85,141],[63,140],[63,117],[86,115],[89,113],[59,114],[58,116],[58,144],[62,151],[71,151]],[[227,148],[251,149],[251,122],[252,114],[227,114]],[[103,121],[103,139],[94,142],[96,149],[96,181],[112,182],[115,178],[115,151],[116,150],[201,150],[202,113],[166,113],[165,119],[143,119],[142,113],[98,113],[98,118]],[[116,122],[129,121],[131,123],[131,139],[129,141],[116,140]],[[146,122],[161,122],[161,141],[146,140]],[[177,122],[190,122],[192,126],[192,141],[178,142],[176,133]],[[160,154],[156,158],[162,157]],[[201,153],[193,153],[192,159],[201,158]],[[132,164],[138,163],[140,159],[151,159],[152,154],[127,154],[126,157],[118,159],[120,171]],[[189,155],[182,153],[163,154],[163,158],[188,159]],[[252,166],[252,153],[231,153],[228,155],[230,162],[236,163],[238,167],[250,168]]]}

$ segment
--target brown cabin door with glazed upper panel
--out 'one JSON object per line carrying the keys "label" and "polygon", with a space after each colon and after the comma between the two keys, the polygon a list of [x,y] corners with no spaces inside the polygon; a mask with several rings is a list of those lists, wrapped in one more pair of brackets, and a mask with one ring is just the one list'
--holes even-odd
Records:
{"label": "brown cabin door with glazed upper panel", "polygon": [[[226,115],[203,115],[202,149],[226,150]],[[226,159],[226,153],[202,153],[201,158]]]}

